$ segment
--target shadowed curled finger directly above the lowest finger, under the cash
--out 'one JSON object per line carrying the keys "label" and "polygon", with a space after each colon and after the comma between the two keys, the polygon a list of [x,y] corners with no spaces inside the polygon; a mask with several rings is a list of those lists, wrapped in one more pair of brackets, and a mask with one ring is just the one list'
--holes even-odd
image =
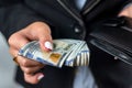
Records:
{"label": "shadowed curled finger directly above the lowest finger, under the cash", "polygon": [[34,66],[34,67],[24,67],[24,66],[21,66],[21,69],[24,73],[26,73],[26,74],[35,74],[35,73],[37,73],[44,66]]}

